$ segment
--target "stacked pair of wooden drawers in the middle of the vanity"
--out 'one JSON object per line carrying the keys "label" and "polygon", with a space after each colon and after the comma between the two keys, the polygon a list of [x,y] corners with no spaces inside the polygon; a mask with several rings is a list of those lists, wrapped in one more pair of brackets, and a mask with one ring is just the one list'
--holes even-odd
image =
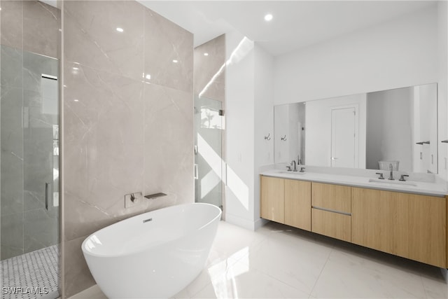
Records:
{"label": "stacked pair of wooden drawers in the middle of the vanity", "polygon": [[311,183],[311,231],[351,241],[351,187]]}

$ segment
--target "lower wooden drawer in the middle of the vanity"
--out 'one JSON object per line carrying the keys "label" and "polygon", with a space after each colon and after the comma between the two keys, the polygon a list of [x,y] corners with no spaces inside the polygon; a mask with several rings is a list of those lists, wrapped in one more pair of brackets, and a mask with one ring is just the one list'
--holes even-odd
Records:
{"label": "lower wooden drawer in the middle of the vanity", "polygon": [[311,232],[351,242],[351,216],[311,209]]}

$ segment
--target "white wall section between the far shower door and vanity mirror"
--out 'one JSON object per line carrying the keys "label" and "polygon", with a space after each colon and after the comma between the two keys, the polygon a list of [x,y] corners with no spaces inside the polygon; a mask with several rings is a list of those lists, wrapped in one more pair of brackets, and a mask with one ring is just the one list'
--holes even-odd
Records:
{"label": "white wall section between the far shower door and vanity mirror", "polygon": [[274,162],[274,58],[238,32],[226,34],[226,51],[225,219],[255,230],[261,225],[259,168]]}

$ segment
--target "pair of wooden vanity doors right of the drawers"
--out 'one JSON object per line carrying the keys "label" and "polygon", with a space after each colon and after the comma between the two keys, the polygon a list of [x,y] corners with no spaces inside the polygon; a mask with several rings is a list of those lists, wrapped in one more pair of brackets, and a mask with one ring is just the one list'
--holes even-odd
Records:
{"label": "pair of wooden vanity doors right of the drawers", "polygon": [[446,200],[352,188],[351,242],[447,267]]}

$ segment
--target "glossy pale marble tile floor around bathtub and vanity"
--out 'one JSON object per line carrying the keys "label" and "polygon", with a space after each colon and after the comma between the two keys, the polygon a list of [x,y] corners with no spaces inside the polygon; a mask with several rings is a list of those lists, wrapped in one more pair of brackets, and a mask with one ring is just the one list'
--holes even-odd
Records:
{"label": "glossy pale marble tile floor around bathtub and vanity", "polygon": [[[268,223],[221,222],[207,266],[174,298],[448,298],[441,270]],[[92,286],[71,299],[104,299]]]}

